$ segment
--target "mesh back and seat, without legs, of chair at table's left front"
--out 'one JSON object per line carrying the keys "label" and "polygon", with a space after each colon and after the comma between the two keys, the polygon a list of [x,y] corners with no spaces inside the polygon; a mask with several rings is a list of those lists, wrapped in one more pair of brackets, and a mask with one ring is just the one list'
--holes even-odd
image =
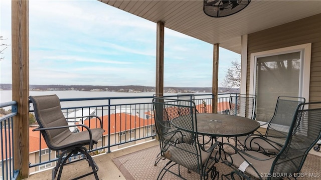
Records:
{"label": "mesh back and seat, without legs, of chair at table's left front", "polygon": [[[155,126],[156,132],[161,141],[161,150],[164,157],[183,165],[190,170],[194,170],[201,173],[201,153],[197,144],[197,126],[196,126],[196,114],[195,104],[193,101],[183,102],[181,100],[165,99],[165,98],[153,98],[154,111],[155,111]],[[182,105],[184,104],[184,105]],[[193,104],[193,105],[188,105]],[[181,114],[181,109],[187,109],[190,113]],[[175,131],[168,131],[164,121],[167,121],[168,117]],[[192,136],[194,143],[190,142],[190,138],[185,138],[187,134]],[[176,139],[173,140],[175,137]],[[206,158],[206,155],[204,155]],[[205,160],[204,160],[205,161]]]}

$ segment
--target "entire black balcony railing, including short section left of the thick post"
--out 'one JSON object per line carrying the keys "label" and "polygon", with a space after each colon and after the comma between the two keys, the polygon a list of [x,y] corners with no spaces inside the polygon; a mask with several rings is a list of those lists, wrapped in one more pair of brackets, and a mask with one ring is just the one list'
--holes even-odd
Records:
{"label": "entire black balcony railing, including short section left of the thick post", "polygon": [[[213,94],[196,93],[194,96],[194,101],[199,112],[211,112]],[[166,97],[176,98],[177,95],[167,95]],[[218,96],[218,102],[228,102],[229,99],[230,93],[222,93]],[[152,96],[62,98],[60,101],[62,111],[65,117],[68,117],[68,123],[83,123],[94,128],[97,127],[97,123],[93,119],[77,118],[77,116],[97,115],[103,119],[105,132],[94,148],[90,150],[92,154],[108,153],[112,150],[148,141],[155,137]],[[16,105],[16,103],[2,103],[1,107],[9,105]],[[3,141],[1,143],[3,147],[6,147],[2,148],[4,149],[2,150],[2,174],[7,173],[8,178],[10,177],[9,179],[12,179],[16,175],[15,173],[17,173],[17,171],[13,170],[14,146],[13,133],[10,130],[14,123],[12,117],[17,113],[16,108],[16,106],[13,106],[11,114],[1,117],[3,129],[1,134]],[[30,113],[33,113],[32,104],[30,104]],[[45,168],[54,167],[60,152],[51,151],[47,147],[41,133],[39,131],[32,131],[33,128],[36,128],[36,125],[29,128],[30,172],[33,173]],[[70,128],[70,130],[77,132],[83,129],[79,126]],[[10,137],[4,132],[10,132]],[[10,148],[7,148],[7,146]],[[8,165],[4,163],[7,159],[11,159]],[[76,154],[69,161],[80,159],[82,157]]]}

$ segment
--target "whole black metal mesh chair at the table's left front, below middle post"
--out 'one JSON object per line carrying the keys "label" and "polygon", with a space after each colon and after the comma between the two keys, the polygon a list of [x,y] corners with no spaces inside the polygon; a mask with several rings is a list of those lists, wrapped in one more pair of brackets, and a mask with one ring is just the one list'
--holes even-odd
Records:
{"label": "whole black metal mesh chair at the table's left front, below middle post", "polygon": [[[178,99],[153,98],[155,126],[159,136],[161,156],[169,159],[169,162],[159,172],[157,179],[162,179],[166,172],[185,179],[181,176],[180,166],[199,173],[201,179],[218,178],[218,172],[214,166],[216,158],[211,156],[218,142],[207,149],[203,143],[199,143],[197,119],[196,114],[193,113],[195,103],[193,101],[181,102],[183,101]],[[181,108],[188,108],[190,113],[180,114]],[[168,119],[176,130],[169,130]],[[189,138],[186,138],[187,136]],[[178,172],[171,169],[174,165],[178,165]]]}

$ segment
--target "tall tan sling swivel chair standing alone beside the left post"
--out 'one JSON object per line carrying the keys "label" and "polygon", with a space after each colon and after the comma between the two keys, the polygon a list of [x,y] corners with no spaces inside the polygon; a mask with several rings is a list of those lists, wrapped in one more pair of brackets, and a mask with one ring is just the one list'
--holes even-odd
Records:
{"label": "tall tan sling swivel chair standing alone beside the left post", "polygon": [[[85,159],[88,161],[89,166],[91,166],[92,172],[80,175],[74,179],[94,174],[95,179],[98,180],[98,166],[88,153],[86,145],[89,145],[89,149],[92,149],[93,144],[96,144],[101,138],[104,129],[89,128],[84,124],[68,125],[68,122],[61,111],[60,99],[57,95],[29,96],[29,98],[33,103],[35,116],[40,126],[33,130],[40,130],[47,146],[51,150],[62,151],[59,155],[56,167],[52,170],[52,179],[55,179],[58,170],[57,179],[60,179],[64,165],[75,162],[67,162],[68,158],[73,154],[81,153],[86,156]],[[95,117],[96,120],[99,120],[100,127],[102,127],[102,121],[98,116],[90,115],[87,117]],[[81,126],[84,130],[80,132],[71,132],[69,127],[75,126]]]}

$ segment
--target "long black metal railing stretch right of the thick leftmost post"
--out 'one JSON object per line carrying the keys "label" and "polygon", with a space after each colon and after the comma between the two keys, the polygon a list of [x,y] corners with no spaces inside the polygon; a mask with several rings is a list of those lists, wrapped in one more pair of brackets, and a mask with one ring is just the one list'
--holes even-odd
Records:
{"label": "long black metal railing stretch right of the thick leftmost post", "polygon": [[[138,144],[152,140],[155,137],[153,107],[153,96],[124,96],[124,97],[89,97],[89,98],[62,98],[61,106],[68,123],[82,123],[90,128],[97,127],[94,118],[77,118],[77,116],[97,115],[102,118],[105,132],[93,149],[92,154],[110,152],[128,145]],[[176,95],[166,97],[176,98]],[[211,104],[212,94],[195,94],[196,104]],[[31,103],[31,102],[30,102]],[[33,113],[33,105],[30,105],[30,112]],[[75,118],[74,118],[75,117]],[[99,127],[99,126],[98,126]],[[36,127],[31,127],[36,128]],[[70,128],[77,132],[83,130],[81,127]],[[35,133],[30,130],[30,133]],[[60,152],[51,151],[45,145],[40,132],[38,133],[38,148],[32,150],[30,171],[38,171],[43,168],[55,166]],[[34,142],[36,143],[36,142]],[[79,155],[72,156],[69,160],[79,160]]]}

